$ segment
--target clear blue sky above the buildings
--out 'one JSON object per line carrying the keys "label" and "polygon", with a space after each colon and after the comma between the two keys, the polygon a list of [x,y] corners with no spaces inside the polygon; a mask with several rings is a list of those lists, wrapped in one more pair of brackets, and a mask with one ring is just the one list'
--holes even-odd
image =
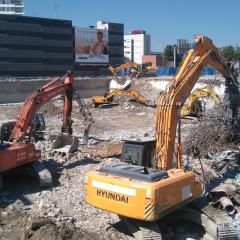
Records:
{"label": "clear blue sky above the buildings", "polygon": [[124,23],[125,33],[144,29],[158,51],[195,34],[219,47],[240,46],[240,0],[25,0],[27,16],[70,19],[88,27],[98,20]]}

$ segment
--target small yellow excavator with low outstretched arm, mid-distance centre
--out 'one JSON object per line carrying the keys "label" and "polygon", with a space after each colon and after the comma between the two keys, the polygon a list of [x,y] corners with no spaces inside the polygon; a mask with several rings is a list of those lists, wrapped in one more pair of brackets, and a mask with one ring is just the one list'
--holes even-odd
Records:
{"label": "small yellow excavator with low outstretched arm, mid-distance centre", "polygon": [[148,105],[149,100],[142,96],[140,93],[135,91],[124,91],[124,90],[113,90],[109,93],[106,93],[105,96],[95,96],[92,97],[92,106],[93,107],[108,107],[113,106],[112,100],[115,95],[125,95],[131,97],[134,101],[139,102],[144,105]]}

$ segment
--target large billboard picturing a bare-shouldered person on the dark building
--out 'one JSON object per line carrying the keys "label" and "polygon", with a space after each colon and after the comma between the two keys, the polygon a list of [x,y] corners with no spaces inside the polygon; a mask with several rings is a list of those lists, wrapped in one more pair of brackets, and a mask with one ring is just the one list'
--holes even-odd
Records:
{"label": "large billboard picturing a bare-shouldered person on the dark building", "polygon": [[108,63],[108,31],[75,27],[75,61]]}

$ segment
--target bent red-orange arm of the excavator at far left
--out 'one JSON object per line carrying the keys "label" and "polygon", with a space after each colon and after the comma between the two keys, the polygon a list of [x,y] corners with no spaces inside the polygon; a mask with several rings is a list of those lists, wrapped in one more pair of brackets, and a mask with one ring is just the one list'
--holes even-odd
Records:
{"label": "bent red-orange arm of the excavator at far left", "polygon": [[74,75],[67,73],[62,78],[54,78],[50,83],[39,88],[29,96],[24,102],[17,117],[16,125],[13,129],[11,141],[29,142],[34,128],[34,118],[38,109],[52,98],[64,93],[64,114],[62,132],[72,134],[72,97],[73,97]]}

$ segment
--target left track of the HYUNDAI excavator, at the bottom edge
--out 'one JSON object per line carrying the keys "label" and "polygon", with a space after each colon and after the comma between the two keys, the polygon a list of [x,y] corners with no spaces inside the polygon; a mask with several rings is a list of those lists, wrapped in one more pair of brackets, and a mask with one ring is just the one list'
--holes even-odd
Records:
{"label": "left track of the HYUNDAI excavator, at the bottom edge", "polygon": [[136,240],[162,240],[160,228],[155,222],[145,222],[121,217],[128,231]]}

